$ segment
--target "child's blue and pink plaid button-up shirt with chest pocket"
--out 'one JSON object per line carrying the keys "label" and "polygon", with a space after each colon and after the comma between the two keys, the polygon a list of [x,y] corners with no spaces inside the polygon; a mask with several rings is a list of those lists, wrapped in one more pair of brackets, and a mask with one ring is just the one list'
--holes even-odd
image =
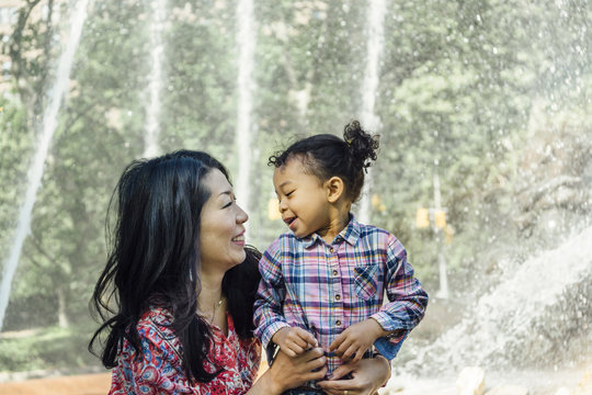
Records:
{"label": "child's blue and pink plaid button-up shirt with chest pocket", "polygon": [[[263,253],[254,323],[265,349],[278,329],[298,326],[327,350],[345,328],[372,317],[387,331],[399,329],[374,343],[390,360],[423,317],[428,294],[403,246],[388,232],[351,218],[330,245],[317,234],[286,233]],[[389,303],[383,305],[385,291]],[[327,357],[330,373],[341,360]]]}

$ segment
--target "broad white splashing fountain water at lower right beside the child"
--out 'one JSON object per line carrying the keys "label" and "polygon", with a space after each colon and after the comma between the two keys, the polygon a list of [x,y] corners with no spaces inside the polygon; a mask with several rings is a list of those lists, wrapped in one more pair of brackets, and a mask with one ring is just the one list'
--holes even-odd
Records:
{"label": "broad white splashing fountain water at lower right beside the child", "polygon": [[469,366],[485,369],[488,385],[520,383],[533,394],[579,381],[592,353],[590,240],[592,226],[522,264],[506,261],[497,286],[448,312],[463,316],[458,324],[435,341],[409,340],[383,393],[452,395]]}

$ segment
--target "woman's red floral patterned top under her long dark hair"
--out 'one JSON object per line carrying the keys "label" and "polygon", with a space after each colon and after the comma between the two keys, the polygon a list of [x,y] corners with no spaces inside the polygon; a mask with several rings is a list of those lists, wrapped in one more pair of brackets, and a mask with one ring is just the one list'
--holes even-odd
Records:
{"label": "woman's red floral patterned top under her long dark hair", "polygon": [[[118,350],[117,366],[113,368],[110,394],[244,394],[259,370],[261,343],[254,337],[240,339],[230,314],[227,319],[228,337],[218,327],[212,327],[209,351],[210,359],[224,371],[209,383],[190,385],[181,363],[181,342],[170,327],[171,314],[163,308],[150,307],[137,325],[141,358],[136,359],[136,350],[124,340]],[[216,370],[209,361],[204,361],[204,369]]]}

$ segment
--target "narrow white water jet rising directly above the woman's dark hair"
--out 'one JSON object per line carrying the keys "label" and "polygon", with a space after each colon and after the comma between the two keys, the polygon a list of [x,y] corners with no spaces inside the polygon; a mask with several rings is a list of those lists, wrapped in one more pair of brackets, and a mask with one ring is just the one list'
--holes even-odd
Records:
{"label": "narrow white water jet rising directly above the woman's dark hair", "polygon": [[150,23],[150,70],[148,91],[150,102],[147,109],[146,120],[146,142],[144,157],[150,158],[160,153],[159,146],[159,120],[160,120],[160,91],[162,90],[162,59],[164,45],[162,42],[162,31],[167,15],[167,0],[153,0],[152,23]]}

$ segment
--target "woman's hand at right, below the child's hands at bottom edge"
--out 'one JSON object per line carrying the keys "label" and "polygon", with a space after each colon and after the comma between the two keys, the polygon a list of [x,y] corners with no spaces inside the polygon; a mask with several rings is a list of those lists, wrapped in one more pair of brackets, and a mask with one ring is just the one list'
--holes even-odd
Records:
{"label": "woman's hand at right, below the child's hands at bottom edge", "polygon": [[[352,379],[339,380],[352,373]],[[329,381],[319,382],[318,385],[329,395],[372,395],[390,379],[390,365],[382,357],[366,358],[360,362],[350,362],[341,365],[333,372]]]}

